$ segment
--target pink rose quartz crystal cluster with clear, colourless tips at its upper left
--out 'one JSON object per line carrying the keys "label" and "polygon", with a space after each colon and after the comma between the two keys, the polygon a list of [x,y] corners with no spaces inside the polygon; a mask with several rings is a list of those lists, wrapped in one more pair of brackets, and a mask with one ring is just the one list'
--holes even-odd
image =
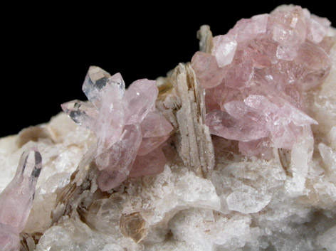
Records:
{"label": "pink rose quartz crystal cluster with clear, colourless tips at its upper left", "polygon": [[125,90],[120,73],[111,75],[91,66],[83,83],[90,102],[64,103],[73,122],[95,132],[98,139],[95,163],[102,191],[119,186],[128,176],[163,171],[166,158],[159,146],[168,139],[172,125],[155,112],[157,84],[137,80]]}

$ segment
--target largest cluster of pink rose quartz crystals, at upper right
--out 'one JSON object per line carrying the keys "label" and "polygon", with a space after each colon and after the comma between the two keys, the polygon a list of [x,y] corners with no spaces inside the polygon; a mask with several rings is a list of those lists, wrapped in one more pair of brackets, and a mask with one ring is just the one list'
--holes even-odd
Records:
{"label": "largest cluster of pink rose quartz crystals, at upper right", "polygon": [[246,156],[291,149],[303,127],[305,95],[330,69],[325,35],[330,26],[300,6],[241,19],[214,37],[210,53],[191,59],[206,89],[206,124],[211,134],[239,141]]}

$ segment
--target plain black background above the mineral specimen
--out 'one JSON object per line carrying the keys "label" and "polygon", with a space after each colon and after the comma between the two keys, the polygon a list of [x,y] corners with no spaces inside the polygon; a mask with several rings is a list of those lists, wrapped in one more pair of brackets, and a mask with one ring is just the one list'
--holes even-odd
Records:
{"label": "plain black background above the mineral specimen", "polygon": [[293,3],[336,26],[331,1],[123,3],[69,6],[48,1],[2,9],[0,137],[48,122],[61,112],[62,102],[85,100],[81,85],[90,65],[120,72],[128,85],[165,75],[191,60],[202,24],[209,24],[216,36],[241,18]]}

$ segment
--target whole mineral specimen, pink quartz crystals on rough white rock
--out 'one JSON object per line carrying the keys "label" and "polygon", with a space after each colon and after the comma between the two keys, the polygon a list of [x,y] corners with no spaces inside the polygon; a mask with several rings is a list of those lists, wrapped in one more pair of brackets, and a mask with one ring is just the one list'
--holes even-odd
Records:
{"label": "whole mineral specimen, pink quartz crystals on rough white rock", "polygon": [[73,121],[0,139],[3,194],[21,195],[22,151],[43,156],[29,216],[1,197],[1,237],[29,251],[336,250],[335,28],[280,6],[197,37],[191,63],[156,82],[125,90],[91,67],[89,102],[62,105]]}

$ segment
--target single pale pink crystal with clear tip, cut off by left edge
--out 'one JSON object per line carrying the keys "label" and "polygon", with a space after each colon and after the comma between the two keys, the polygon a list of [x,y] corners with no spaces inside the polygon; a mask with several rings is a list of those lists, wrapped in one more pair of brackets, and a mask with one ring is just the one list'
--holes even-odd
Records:
{"label": "single pale pink crystal with clear tip, cut off by left edge", "polygon": [[41,168],[38,151],[23,152],[13,180],[0,194],[1,250],[19,250],[19,234],[28,220]]}

